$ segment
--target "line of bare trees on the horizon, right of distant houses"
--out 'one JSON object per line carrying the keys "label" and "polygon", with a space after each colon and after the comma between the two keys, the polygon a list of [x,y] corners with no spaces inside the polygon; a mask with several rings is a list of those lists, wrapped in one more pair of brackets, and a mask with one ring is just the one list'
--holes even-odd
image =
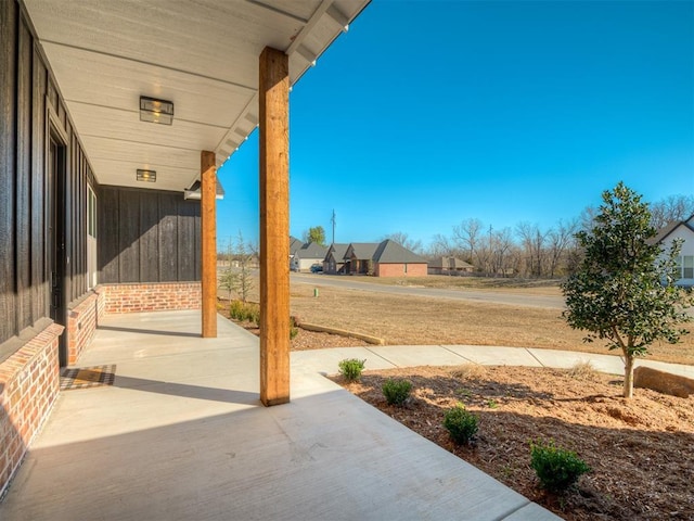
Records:
{"label": "line of bare trees on the horizon, right of distant houses", "polygon": [[[660,229],[672,220],[694,215],[694,195],[670,195],[651,203],[651,225]],[[449,236],[436,234],[427,249],[407,233],[391,239],[428,258],[454,256],[474,267],[475,274],[490,277],[557,278],[575,271],[582,259],[576,239],[579,231],[592,229],[599,208],[587,207],[579,217],[541,228],[520,221],[515,227],[494,229],[480,219],[466,218],[452,227]]]}

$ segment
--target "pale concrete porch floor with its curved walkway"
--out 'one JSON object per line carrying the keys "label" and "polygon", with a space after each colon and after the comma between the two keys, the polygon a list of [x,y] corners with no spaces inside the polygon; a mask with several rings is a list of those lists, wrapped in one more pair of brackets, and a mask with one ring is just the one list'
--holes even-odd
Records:
{"label": "pale concrete porch floor with its curved walkway", "polygon": [[265,408],[256,336],[218,328],[201,339],[196,312],[106,318],[79,367],[115,365],[114,384],[61,393],[0,519],[557,519],[320,372],[346,357],[370,369],[590,358],[621,372],[616,357],[510,347],[297,352],[292,403]]}

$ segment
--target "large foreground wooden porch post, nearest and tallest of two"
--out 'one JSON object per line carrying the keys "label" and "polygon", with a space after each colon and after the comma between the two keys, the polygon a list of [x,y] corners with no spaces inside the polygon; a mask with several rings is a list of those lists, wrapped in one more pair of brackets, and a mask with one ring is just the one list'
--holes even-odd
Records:
{"label": "large foreground wooden porch post, nearest and tallest of two", "polygon": [[260,53],[260,401],[290,401],[290,64]]}

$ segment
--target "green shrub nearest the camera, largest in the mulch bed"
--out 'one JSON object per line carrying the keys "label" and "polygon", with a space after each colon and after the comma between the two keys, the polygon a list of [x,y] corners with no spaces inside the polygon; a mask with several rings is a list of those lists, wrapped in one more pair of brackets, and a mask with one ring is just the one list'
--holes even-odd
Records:
{"label": "green shrub nearest the camera, largest in the mulch bed", "polygon": [[568,488],[591,470],[576,453],[555,446],[554,440],[530,443],[530,467],[538,475],[540,486],[551,492]]}

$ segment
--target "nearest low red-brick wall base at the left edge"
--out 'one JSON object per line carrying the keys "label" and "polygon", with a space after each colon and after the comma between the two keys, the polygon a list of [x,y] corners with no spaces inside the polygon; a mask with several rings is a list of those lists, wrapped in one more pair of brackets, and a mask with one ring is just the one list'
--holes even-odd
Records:
{"label": "nearest low red-brick wall base at the left edge", "polygon": [[0,497],[57,397],[62,332],[49,325],[0,364]]}

